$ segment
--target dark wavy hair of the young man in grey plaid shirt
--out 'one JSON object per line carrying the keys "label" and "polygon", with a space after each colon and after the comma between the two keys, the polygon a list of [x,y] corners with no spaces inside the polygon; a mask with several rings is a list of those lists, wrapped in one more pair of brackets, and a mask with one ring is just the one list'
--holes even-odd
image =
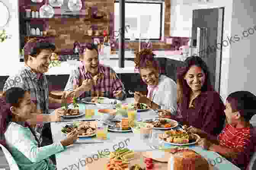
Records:
{"label": "dark wavy hair of the young man in grey plaid shirt", "polygon": [[56,50],[56,46],[48,41],[47,39],[42,38],[31,38],[27,41],[26,45],[24,46],[24,61],[27,63],[29,55],[32,57],[37,57],[38,54],[42,50],[49,49],[52,52]]}

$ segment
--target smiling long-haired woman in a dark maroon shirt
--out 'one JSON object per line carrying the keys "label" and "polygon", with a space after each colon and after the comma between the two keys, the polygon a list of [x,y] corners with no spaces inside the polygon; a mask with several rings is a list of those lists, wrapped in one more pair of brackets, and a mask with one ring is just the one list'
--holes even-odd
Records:
{"label": "smiling long-haired woman in a dark maroon shirt", "polygon": [[[210,82],[210,72],[200,57],[188,57],[177,72],[178,114],[162,111],[166,117],[183,125],[194,126],[218,135],[224,127],[225,106]],[[177,116],[178,115],[178,116]]]}

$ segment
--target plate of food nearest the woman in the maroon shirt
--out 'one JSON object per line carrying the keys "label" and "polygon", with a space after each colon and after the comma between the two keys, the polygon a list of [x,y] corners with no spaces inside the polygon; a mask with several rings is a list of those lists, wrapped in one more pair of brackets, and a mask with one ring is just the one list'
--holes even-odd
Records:
{"label": "plate of food nearest the woman in the maroon shirt", "polygon": [[153,129],[159,129],[159,130],[168,130],[172,128],[176,128],[179,123],[172,119],[167,118],[155,118],[155,119],[146,119],[144,122],[153,124]]}

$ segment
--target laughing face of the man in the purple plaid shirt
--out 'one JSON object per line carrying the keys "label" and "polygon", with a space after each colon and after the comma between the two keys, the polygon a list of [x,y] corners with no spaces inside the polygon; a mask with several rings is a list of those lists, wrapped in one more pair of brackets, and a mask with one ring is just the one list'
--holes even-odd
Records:
{"label": "laughing face of the man in the purple plaid shirt", "polygon": [[92,75],[96,75],[98,73],[99,58],[98,52],[95,49],[84,50],[83,65],[85,66],[85,69],[89,71]]}

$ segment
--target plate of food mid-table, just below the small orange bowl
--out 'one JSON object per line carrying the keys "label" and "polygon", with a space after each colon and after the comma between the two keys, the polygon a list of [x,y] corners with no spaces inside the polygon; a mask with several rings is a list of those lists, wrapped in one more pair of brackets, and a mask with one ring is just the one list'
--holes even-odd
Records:
{"label": "plate of food mid-table, just below the small orange bowl", "polygon": [[[122,126],[122,130],[120,128]],[[123,120],[121,123],[121,120],[111,120],[109,121],[109,131],[112,132],[131,132],[131,127],[128,123],[128,120]]]}

